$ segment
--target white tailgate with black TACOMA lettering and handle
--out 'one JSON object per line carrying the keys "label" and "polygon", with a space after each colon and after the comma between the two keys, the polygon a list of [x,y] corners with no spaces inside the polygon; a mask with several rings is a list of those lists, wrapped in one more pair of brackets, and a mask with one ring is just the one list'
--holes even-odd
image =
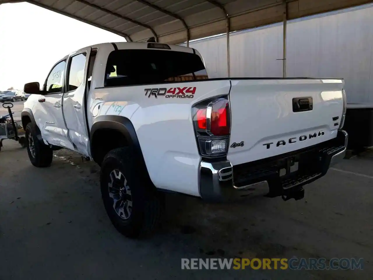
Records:
{"label": "white tailgate with black TACOMA lettering and handle", "polygon": [[232,165],[333,139],[343,112],[343,80],[232,79]]}

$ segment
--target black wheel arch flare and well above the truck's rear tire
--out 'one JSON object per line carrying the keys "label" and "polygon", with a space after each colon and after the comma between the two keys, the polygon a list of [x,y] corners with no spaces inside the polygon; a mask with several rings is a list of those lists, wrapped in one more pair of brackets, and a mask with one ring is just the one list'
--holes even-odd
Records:
{"label": "black wheel arch flare and well above the truck's rear tire", "polygon": [[[142,172],[144,172],[145,177],[151,182],[135,128],[128,118],[124,116],[98,116],[97,118],[95,118],[90,131],[91,157],[95,162],[101,164],[100,161],[102,160],[102,156],[100,156],[100,131],[101,133],[103,131],[110,131],[110,134],[108,136],[123,137],[123,139],[120,139],[124,140],[121,146],[128,146],[130,148],[132,152],[132,158],[135,161],[134,164],[136,164],[136,166],[139,168],[138,170],[142,170]],[[106,143],[107,141],[110,141],[110,139],[106,139]]]}

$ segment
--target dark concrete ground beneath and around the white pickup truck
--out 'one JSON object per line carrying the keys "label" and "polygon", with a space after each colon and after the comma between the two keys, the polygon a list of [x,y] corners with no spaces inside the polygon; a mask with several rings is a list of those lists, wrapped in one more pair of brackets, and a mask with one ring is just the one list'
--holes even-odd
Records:
{"label": "dark concrete ground beneath and around the white pickup truck", "polygon": [[[97,165],[60,150],[38,169],[18,143],[3,144],[0,280],[371,279],[373,153],[336,165],[299,201],[209,205],[167,195],[160,230],[130,240],[105,213]],[[292,256],[364,258],[364,270],[181,270],[181,258]]]}

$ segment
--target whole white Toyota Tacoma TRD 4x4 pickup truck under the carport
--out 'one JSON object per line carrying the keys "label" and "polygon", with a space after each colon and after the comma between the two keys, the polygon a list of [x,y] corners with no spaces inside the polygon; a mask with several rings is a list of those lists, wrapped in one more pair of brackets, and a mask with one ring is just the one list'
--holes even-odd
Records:
{"label": "whole white Toyota Tacoma TRD 4x4 pickup truck under the carport", "polygon": [[66,148],[101,166],[104,206],[128,237],[148,233],[160,191],[232,200],[303,186],[345,156],[341,79],[209,79],[195,49],[105,43],[59,60],[22,112],[36,167]]}

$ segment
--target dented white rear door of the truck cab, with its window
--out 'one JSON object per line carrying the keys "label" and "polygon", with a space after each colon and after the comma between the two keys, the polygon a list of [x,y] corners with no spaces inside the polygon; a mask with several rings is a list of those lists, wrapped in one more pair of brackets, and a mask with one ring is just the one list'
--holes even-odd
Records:
{"label": "dented white rear door of the truck cab, with its window", "polygon": [[88,86],[88,62],[91,48],[80,50],[68,60],[63,115],[74,149],[88,156],[88,128],[85,119],[85,93]]}

